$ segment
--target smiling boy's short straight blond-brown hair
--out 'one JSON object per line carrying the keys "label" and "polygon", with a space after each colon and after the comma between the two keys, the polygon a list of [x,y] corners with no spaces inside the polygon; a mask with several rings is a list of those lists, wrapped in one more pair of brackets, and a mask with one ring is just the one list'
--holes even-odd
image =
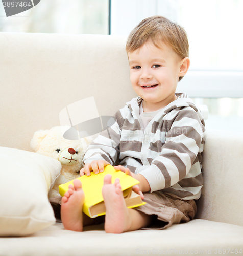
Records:
{"label": "smiling boy's short straight blond-brown hair", "polygon": [[[165,17],[152,16],[143,19],[129,34],[126,52],[133,52],[150,40],[158,48],[161,48],[161,43],[171,47],[181,59],[189,57],[186,31]],[[179,77],[179,81],[182,78],[183,76]]]}

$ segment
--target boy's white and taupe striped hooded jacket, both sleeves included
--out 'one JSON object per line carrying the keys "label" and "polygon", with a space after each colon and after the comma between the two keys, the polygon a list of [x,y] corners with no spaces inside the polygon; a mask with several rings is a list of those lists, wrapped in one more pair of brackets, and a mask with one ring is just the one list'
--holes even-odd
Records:
{"label": "boy's white and taupe striped hooded jacket, both sleeves included", "polygon": [[185,93],[141,129],[139,104],[133,98],[115,113],[116,122],[89,145],[83,164],[104,159],[143,175],[150,193],[172,193],[180,199],[199,199],[203,186],[202,151],[205,123],[199,109]]}

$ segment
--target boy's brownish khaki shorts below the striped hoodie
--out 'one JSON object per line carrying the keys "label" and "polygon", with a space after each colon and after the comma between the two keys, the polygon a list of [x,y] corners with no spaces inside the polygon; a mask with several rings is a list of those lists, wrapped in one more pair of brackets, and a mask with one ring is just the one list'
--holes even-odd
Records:
{"label": "boy's brownish khaki shorts below the striped hoodie", "polygon": [[153,215],[150,227],[141,229],[165,229],[172,224],[185,223],[192,220],[197,212],[194,200],[181,200],[173,194],[155,191],[143,193],[143,201],[147,204],[134,209]]}

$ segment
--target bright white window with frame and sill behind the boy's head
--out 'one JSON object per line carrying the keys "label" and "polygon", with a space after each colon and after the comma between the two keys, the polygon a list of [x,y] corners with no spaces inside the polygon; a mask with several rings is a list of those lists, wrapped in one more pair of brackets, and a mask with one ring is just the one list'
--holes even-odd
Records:
{"label": "bright white window with frame and sill behind the boy's head", "polygon": [[128,36],[153,15],[180,24],[188,34],[191,65],[178,92],[208,106],[209,129],[242,130],[242,10],[242,0],[111,0],[111,34]]}

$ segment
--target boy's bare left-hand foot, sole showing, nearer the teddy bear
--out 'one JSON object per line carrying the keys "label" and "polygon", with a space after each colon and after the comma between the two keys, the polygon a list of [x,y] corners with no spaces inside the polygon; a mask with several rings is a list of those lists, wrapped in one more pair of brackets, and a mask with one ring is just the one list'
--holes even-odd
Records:
{"label": "boy's bare left-hand foot, sole showing, nearer the teddy bear", "polygon": [[84,191],[80,180],[74,180],[74,186],[69,185],[62,198],[61,219],[65,229],[83,231]]}

